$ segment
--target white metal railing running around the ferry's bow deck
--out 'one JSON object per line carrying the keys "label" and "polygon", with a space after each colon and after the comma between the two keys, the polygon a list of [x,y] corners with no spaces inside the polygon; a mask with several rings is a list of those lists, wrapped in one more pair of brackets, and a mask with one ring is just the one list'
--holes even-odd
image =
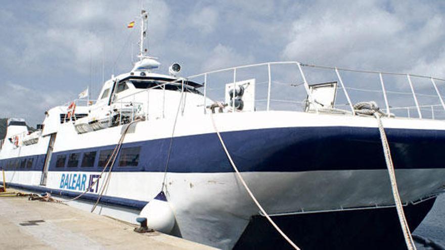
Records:
{"label": "white metal railing running around the ferry's bow deck", "polygon": [[[272,85],[273,84],[278,84],[278,82],[274,83],[274,81],[272,79],[273,74],[272,74],[271,66],[273,66],[273,65],[295,65],[295,66],[297,66],[295,68],[295,71],[297,72],[297,75],[299,73],[301,79],[303,80],[303,82],[301,84],[299,84],[299,85],[303,85],[304,86],[305,94],[306,94],[304,102],[306,102],[306,104],[307,104],[307,102],[308,103],[314,103],[314,102],[316,103],[316,100],[313,99],[313,97],[311,96],[312,94],[311,94],[311,90],[310,90],[310,85],[309,85],[309,82],[306,79],[304,70],[307,69],[307,68],[318,68],[318,69],[324,69],[324,70],[328,70],[328,71],[332,70],[333,73],[335,73],[335,75],[337,76],[337,79],[338,79],[338,83],[339,83],[339,86],[337,86],[337,89],[339,89],[339,88],[342,89],[342,93],[344,94],[344,96],[346,98],[346,101],[347,101],[346,105],[349,106],[349,109],[351,110],[352,115],[355,115],[355,110],[354,110],[354,107],[353,107],[354,104],[351,101],[351,96],[350,96],[350,93],[348,92],[348,90],[353,89],[353,90],[363,90],[363,91],[365,91],[365,89],[346,87],[348,78],[347,77],[343,78],[342,74],[343,74],[343,72],[348,72],[348,71],[349,72],[360,72],[360,73],[368,73],[368,74],[376,74],[376,75],[378,75],[378,77],[379,77],[379,84],[380,84],[381,90],[372,90],[372,91],[382,92],[383,93],[384,109],[386,110],[386,113],[388,113],[388,116],[390,116],[390,110],[407,109],[408,110],[408,116],[410,117],[411,116],[410,109],[416,108],[417,109],[417,113],[418,113],[418,117],[422,118],[422,112],[421,111],[424,110],[425,106],[422,106],[422,105],[419,104],[417,95],[423,96],[423,97],[425,97],[425,96],[434,97],[436,95],[428,95],[428,94],[416,93],[415,92],[416,82],[413,81],[413,80],[415,80],[414,78],[416,78],[416,77],[430,79],[431,84],[434,87],[435,93],[437,94],[437,97],[439,98],[440,105],[427,105],[428,108],[431,108],[432,116],[434,117],[434,112],[435,112],[434,111],[434,107],[441,106],[442,109],[445,111],[445,101],[443,99],[444,97],[442,97],[440,95],[439,89],[438,89],[438,87],[436,85],[436,82],[435,82],[435,80],[445,81],[445,79],[437,78],[437,77],[431,77],[431,76],[424,76],[424,75],[415,75],[415,74],[379,72],[379,71],[366,71],[366,70],[354,70],[354,69],[337,68],[337,67],[316,66],[316,65],[302,64],[302,63],[297,62],[297,61],[265,62],[265,63],[257,63],[257,64],[250,64],[250,65],[243,65],[243,66],[237,66],[237,67],[224,68],[224,69],[213,70],[213,71],[208,71],[208,72],[201,73],[201,74],[192,75],[192,76],[189,76],[187,78],[179,78],[178,80],[175,80],[173,82],[175,82],[177,84],[183,85],[183,91],[184,91],[185,90],[185,88],[184,88],[184,82],[185,81],[188,81],[189,79],[192,79],[192,78],[203,77],[204,78],[204,91],[203,91],[203,96],[204,96],[203,103],[204,103],[204,105],[203,105],[203,113],[206,114],[207,113],[207,106],[208,106],[207,98],[208,98],[209,90],[212,90],[212,88],[210,88],[210,89],[208,88],[208,77],[209,77],[210,74],[220,73],[220,72],[231,72],[232,71],[233,79],[232,79],[232,81],[229,80],[229,82],[233,83],[234,87],[236,87],[237,75],[240,75],[238,73],[238,71],[240,69],[247,69],[247,68],[252,68],[252,67],[267,67],[266,68],[267,69],[267,80],[265,80],[263,83],[264,84],[268,84],[268,85],[267,85],[266,92],[263,92],[266,95],[266,98],[263,101],[265,102],[265,110],[266,111],[270,111],[271,110],[271,102],[280,102],[280,101],[291,102],[291,100],[289,100],[289,98],[286,98],[287,100],[283,100],[283,99],[274,98],[272,96],[272,93],[271,93]],[[408,84],[410,86],[411,91],[410,92],[407,91],[406,93],[405,92],[403,92],[403,93],[404,94],[411,94],[413,96],[415,107],[409,107],[409,108],[397,107],[397,108],[394,108],[394,107],[390,106],[387,94],[388,93],[397,93],[397,92],[395,92],[395,91],[387,91],[386,90],[386,86],[385,86],[386,84],[384,82],[384,78],[385,78],[386,75],[397,75],[397,76],[406,76],[407,77],[406,79],[408,80]],[[163,98],[163,101],[162,101],[163,102],[162,103],[162,117],[165,117],[165,106],[167,105],[167,104],[165,104],[165,85],[172,84],[173,82],[172,81],[163,81],[163,80],[157,80],[157,82],[159,84],[157,84],[156,86],[152,86],[152,87],[146,88],[146,89],[141,89],[140,91],[135,91],[133,93],[129,93],[129,94],[126,94],[124,96],[120,96],[119,98],[114,99],[113,102],[114,103],[119,103],[120,102],[122,104],[122,100],[124,100],[124,99],[128,100],[132,96],[133,97],[133,102],[130,102],[130,101],[128,101],[128,102],[136,104],[135,103],[135,96],[138,95],[138,94],[146,93],[146,96],[147,96],[146,97],[146,102],[147,103],[145,104],[145,101],[143,101],[144,103],[142,103],[142,104],[144,106],[143,109],[145,111],[145,115],[148,118],[150,90],[152,90],[152,89],[163,90],[164,98]],[[257,83],[257,85],[258,84],[259,83]],[[274,93],[275,93],[275,91],[274,91]],[[402,92],[400,92],[400,93],[402,93]],[[235,95],[235,91],[233,92],[233,94]],[[233,98],[234,97],[235,96],[233,96]],[[139,101],[141,101],[141,99],[139,97],[138,97],[138,99],[139,99]],[[253,102],[259,102],[259,101],[260,100],[255,99]],[[301,102],[298,102],[298,101],[301,101],[301,100],[295,99],[294,102],[295,103],[301,103]],[[370,101],[370,100],[363,100],[363,101]],[[95,101],[89,100],[89,99],[75,99],[74,102],[88,102],[89,103],[89,102],[95,102]],[[65,104],[65,106],[68,106],[68,104],[69,103]],[[184,101],[184,103],[182,105],[183,105],[183,109],[182,109],[181,114],[184,114],[185,101]],[[199,105],[199,106],[201,106],[201,105]],[[335,106],[338,107],[339,105],[337,104]],[[233,102],[231,104],[231,108],[235,112],[237,111],[235,109],[235,102]],[[383,105],[382,105],[382,108],[383,108]],[[319,112],[318,109],[319,109],[318,106],[315,106],[315,111],[317,113]]]}

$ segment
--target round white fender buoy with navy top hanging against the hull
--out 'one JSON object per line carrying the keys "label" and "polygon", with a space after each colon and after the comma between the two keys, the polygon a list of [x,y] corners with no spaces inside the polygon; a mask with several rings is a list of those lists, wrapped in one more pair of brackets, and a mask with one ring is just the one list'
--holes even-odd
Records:
{"label": "round white fender buoy with navy top hanging against the hull", "polygon": [[163,191],[142,209],[139,217],[147,218],[148,227],[162,233],[169,234],[174,227],[174,214]]}

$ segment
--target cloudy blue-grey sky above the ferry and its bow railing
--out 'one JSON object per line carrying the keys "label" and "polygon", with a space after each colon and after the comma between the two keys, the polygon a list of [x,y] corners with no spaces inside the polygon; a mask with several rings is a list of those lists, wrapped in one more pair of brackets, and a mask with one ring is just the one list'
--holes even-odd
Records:
{"label": "cloudy blue-grey sky above the ferry and its bow railing", "polygon": [[159,73],[299,61],[445,77],[443,1],[4,1],[0,117],[35,126],[89,85],[96,97],[102,66],[128,72],[141,5]]}

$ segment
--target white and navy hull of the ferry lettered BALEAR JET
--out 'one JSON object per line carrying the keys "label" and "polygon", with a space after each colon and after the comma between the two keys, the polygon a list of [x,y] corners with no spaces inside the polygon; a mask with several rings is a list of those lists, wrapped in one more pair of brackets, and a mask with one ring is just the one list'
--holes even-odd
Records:
{"label": "white and navy hull of the ferry lettered BALEAR JET", "polygon": [[[371,214],[382,209],[395,211],[390,207],[393,199],[374,118],[255,112],[218,114],[214,119],[243,178],[274,217],[285,216],[282,218],[293,221],[294,216],[314,218],[314,213],[347,215],[345,210],[349,209]],[[200,121],[202,126],[194,127]],[[173,234],[220,248],[241,244],[237,242],[244,242],[239,240],[246,228],[251,227],[251,219],[257,218],[258,208],[228,162],[209,116],[203,116],[202,120],[179,119],[173,140],[165,132],[171,132],[170,122],[141,122],[130,129],[122,147],[141,147],[139,166],[116,164],[101,198],[102,212],[118,218],[119,212],[123,212],[125,215],[120,218],[134,222],[138,211],[159,193],[165,176],[166,196],[176,219]],[[406,127],[403,120],[383,122],[402,201],[410,204],[439,192],[445,184],[445,156],[441,153],[445,145],[443,123],[413,121]],[[122,127],[114,127],[77,135],[72,126],[63,127],[57,135],[62,142],[56,141],[52,159],[112,149],[120,131]],[[40,165],[8,170],[7,181],[35,189],[44,155],[36,157]],[[57,168],[56,161],[51,161],[47,186],[38,190],[75,196],[88,188],[100,170],[99,167]],[[82,198],[95,202],[104,179],[105,176]],[[91,208],[91,204],[82,206]],[[419,218],[427,210],[417,213]],[[285,231],[295,236],[292,232],[300,232],[299,225],[292,225],[294,228],[286,226]],[[361,235],[363,242],[373,232],[381,232],[374,229]],[[257,236],[267,241],[260,234]],[[298,237],[295,239],[302,242]],[[361,240],[359,236],[357,240]]]}

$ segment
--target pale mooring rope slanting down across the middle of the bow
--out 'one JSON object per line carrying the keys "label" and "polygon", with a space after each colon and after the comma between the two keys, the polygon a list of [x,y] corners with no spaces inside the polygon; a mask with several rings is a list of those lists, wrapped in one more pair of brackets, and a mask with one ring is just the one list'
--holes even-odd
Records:
{"label": "pale mooring rope slanting down across the middle of the bow", "polygon": [[246,182],[244,181],[243,177],[241,176],[240,172],[238,171],[238,168],[236,167],[235,163],[232,160],[232,157],[230,156],[230,153],[226,147],[226,144],[224,143],[224,141],[222,140],[221,135],[219,134],[218,128],[216,127],[215,124],[215,120],[213,119],[213,113],[210,114],[210,117],[212,119],[212,124],[213,124],[213,128],[216,132],[216,134],[218,135],[219,138],[219,142],[221,142],[222,148],[224,148],[224,151],[226,152],[227,158],[230,161],[230,164],[232,165],[233,169],[235,170],[238,178],[240,179],[241,183],[243,184],[244,188],[246,189],[246,191],[249,193],[250,197],[252,198],[253,202],[255,203],[255,205],[258,207],[258,209],[261,211],[261,213],[268,219],[268,221],[272,224],[272,226],[275,227],[275,229],[281,234],[281,236],[283,236],[283,238],[290,244],[292,245],[293,248],[299,250],[300,248],[298,248],[298,246],[280,229],[280,227],[278,227],[277,224],[275,224],[275,222],[272,220],[272,218],[268,215],[268,213],[266,213],[266,211],[262,208],[262,206],[259,204],[258,200],[255,198],[255,195],[253,195],[252,191],[250,190],[249,186],[247,186]]}

